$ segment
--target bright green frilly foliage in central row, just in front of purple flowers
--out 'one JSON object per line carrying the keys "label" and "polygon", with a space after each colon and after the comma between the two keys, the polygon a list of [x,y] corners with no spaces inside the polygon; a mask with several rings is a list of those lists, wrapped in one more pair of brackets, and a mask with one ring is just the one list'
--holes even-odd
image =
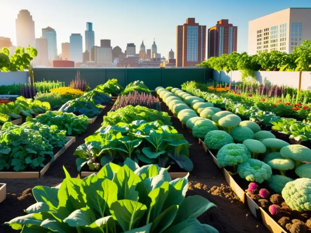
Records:
{"label": "bright green frilly foliage in central row, just in front of purple flowers", "polygon": [[165,125],[171,126],[171,120],[167,112],[159,112],[147,107],[128,105],[123,108],[119,108],[115,112],[108,112],[107,116],[104,116],[102,126],[114,126],[119,122],[131,123],[132,121],[145,120],[162,121]]}

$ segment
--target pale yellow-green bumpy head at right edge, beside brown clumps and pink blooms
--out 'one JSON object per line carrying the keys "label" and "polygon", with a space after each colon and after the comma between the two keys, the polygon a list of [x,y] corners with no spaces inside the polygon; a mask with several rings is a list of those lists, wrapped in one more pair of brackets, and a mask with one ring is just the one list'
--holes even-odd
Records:
{"label": "pale yellow-green bumpy head at right edge, beside brown clumps and pink blooms", "polygon": [[311,179],[299,178],[286,183],[282,197],[293,210],[299,212],[311,210]]}

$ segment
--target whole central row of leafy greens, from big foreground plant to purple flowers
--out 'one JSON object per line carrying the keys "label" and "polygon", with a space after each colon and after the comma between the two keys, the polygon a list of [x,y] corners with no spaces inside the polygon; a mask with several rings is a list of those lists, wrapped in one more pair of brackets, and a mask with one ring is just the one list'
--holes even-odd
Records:
{"label": "whole central row of leafy greens, from big foreground plant to purple flowers", "polygon": [[[185,197],[189,174],[175,180],[169,175],[170,167],[193,169],[188,141],[174,129],[168,113],[152,109],[159,100],[146,96],[149,89],[133,89],[119,101],[130,99],[131,104],[131,96],[140,95],[147,106],[116,103],[102,127],[74,153],[78,169],[88,165],[97,174],[72,178],[64,168],[61,185],[34,187],[37,203],[5,224],[22,232],[218,232],[196,219],[215,204],[201,196]],[[42,115],[33,121],[58,118],[53,112]]]}

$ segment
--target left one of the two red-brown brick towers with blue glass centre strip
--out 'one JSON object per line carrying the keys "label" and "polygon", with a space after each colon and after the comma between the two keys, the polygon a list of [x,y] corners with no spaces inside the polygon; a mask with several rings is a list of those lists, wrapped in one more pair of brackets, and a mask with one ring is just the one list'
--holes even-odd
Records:
{"label": "left one of the two red-brown brick towers with blue glass centre strip", "polygon": [[188,18],[177,26],[176,38],[176,67],[195,66],[205,60],[206,26]]}

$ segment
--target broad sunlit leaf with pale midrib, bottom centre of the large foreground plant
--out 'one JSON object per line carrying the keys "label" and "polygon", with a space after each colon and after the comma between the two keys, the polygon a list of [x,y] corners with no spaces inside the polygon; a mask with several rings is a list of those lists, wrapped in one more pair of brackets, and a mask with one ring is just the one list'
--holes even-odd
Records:
{"label": "broad sunlit leaf with pale midrib, bottom centre of the large foreground plant", "polygon": [[147,207],[137,201],[120,200],[112,203],[111,214],[117,219],[123,231],[136,228]]}

